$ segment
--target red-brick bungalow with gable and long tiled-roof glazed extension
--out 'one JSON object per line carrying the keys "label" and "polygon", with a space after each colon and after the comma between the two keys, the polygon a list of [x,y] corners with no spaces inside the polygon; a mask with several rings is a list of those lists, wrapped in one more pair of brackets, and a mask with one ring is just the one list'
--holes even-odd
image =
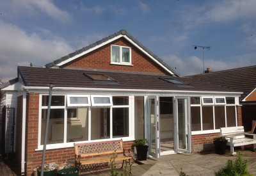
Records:
{"label": "red-brick bungalow with gable and long tiled-roof glazed extension", "polygon": [[134,139],[147,138],[157,158],[200,152],[220,127],[241,125],[241,92],[180,77],[124,29],[17,72],[0,87],[1,106],[15,108],[15,156],[26,175],[42,161],[50,83],[47,163],[74,161],[74,143],[113,139],[133,150]]}

